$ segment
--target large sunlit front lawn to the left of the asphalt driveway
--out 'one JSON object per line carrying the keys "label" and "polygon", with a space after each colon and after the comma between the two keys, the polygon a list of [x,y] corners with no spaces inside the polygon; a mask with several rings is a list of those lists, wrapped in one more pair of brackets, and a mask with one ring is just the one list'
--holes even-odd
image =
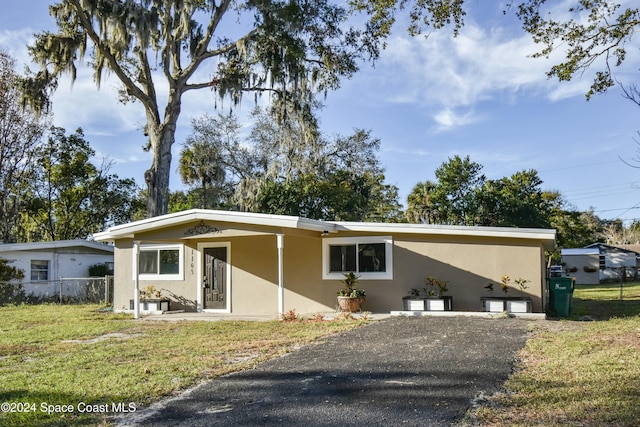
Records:
{"label": "large sunlit front lawn to the left of the asphalt driveway", "polygon": [[[361,323],[150,322],[98,308],[0,308],[0,403],[21,411],[0,412],[0,425],[107,424],[112,404],[140,409]],[[87,414],[81,404],[103,406]]]}

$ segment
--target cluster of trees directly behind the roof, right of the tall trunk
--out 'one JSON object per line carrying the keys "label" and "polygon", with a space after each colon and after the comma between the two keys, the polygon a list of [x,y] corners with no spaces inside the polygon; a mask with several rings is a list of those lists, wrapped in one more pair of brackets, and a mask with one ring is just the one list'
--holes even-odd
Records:
{"label": "cluster of trees directly behind the roof, right of the tall trunk", "polygon": [[[294,109],[288,114],[278,122],[273,110],[257,108],[244,140],[233,116],[193,121],[180,170],[200,206],[344,221],[401,218],[398,189],[384,182],[377,156],[380,140],[361,129],[328,138]],[[176,194],[173,206],[192,207],[193,199]]]}

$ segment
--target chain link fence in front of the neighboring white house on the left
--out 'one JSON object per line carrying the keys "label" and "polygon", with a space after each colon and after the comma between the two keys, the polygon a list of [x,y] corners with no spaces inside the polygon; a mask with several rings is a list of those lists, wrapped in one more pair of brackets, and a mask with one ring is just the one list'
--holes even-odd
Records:
{"label": "chain link fence in front of the neighboring white house on the left", "polygon": [[113,276],[0,282],[0,306],[42,303],[112,304]]}

